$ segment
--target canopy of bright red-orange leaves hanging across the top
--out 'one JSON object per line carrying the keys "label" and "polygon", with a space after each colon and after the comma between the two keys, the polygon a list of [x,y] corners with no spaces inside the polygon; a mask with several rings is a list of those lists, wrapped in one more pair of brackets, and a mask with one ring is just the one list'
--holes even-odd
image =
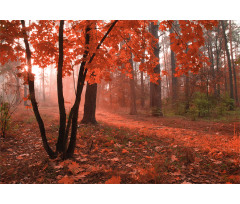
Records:
{"label": "canopy of bright red-orange leaves hanging across the top", "polygon": [[[83,53],[87,49],[89,54],[86,61],[88,69],[87,80],[100,82],[101,79],[110,80],[109,73],[115,69],[131,77],[132,66],[129,62],[133,55],[135,62],[140,62],[139,69],[151,76],[155,82],[159,76],[154,73],[159,63],[153,53],[153,47],[158,41],[147,30],[150,22],[158,21],[132,20],[118,21],[109,33],[100,49],[99,41],[109,29],[113,21],[67,21],[64,28],[64,64],[63,76],[70,75],[72,65],[82,62]],[[171,49],[176,54],[176,75],[196,73],[208,58],[201,52],[204,45],[203,29],[211,29],[217,21],[179,21],[179,28],[173,26],[174,21],[162,21],[159,29],[165,31],[174,28],[170,34]],[[86,26],[90,26],[90,44],[85,47]],[[25,28],[31,44],[32,64],[45,68],[50,64],[57,67],[58,62],[58,28],[59,21],[33,21]],[[0,62],[19,59],[21,68],[26,64],[24,49],[21,46],[23,30],[20,21],[0,21],[1,55]],[[121,46],[120,46],[121,44]],[[92,63],[90,58],[95,54]],[[122,66],[124,65],[124,66]],[[94,72],[94,75],[92,73]],[[23,75],[24,76],[24,75]]]}

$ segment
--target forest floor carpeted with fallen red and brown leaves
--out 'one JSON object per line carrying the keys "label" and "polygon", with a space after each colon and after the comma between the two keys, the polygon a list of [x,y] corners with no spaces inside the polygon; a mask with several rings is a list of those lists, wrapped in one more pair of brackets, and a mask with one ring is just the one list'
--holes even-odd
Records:
{"label": "forest floor carpeted with fallen red and brown leaves", "polygon": [[[58,109],[40,112],[54,147]],[[62,161],[48,158],[32,110],[19,108],[0,141],[0,183],[240,183],[237,121],[103,110],[96,118],[96,126],[79,125],[75,156]]]}

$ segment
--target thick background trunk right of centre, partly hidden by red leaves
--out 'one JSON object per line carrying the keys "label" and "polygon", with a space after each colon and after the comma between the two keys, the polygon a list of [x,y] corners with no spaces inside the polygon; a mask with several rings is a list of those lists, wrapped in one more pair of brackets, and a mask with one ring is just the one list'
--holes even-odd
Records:
{"label": "thick background trunk right of centre, partly hidden by red leaves", "polygon": [[[150,32],[156,38],[158,37],[158,25],[150,24]],[[154,45],[154,55],[159,59],[159,43]],[[159,61],[159,60],[158,60]],[[160,76],[160,64],[154,68],[154,73]],[[161,80],[156,83],[150,82],[150,107],[152,116],[162,116],[162,100],[161,100]]]}

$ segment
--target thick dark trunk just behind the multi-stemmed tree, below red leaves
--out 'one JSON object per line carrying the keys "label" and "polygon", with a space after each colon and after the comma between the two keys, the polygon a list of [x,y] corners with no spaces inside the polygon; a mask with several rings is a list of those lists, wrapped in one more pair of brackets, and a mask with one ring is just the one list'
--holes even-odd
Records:
{"label": "thick dark trunk just behind the multi-stemmed tree, below red leaves", "polygon": [[81,123],[83,124],[97,124],[96,121],[96,100],[97,100],[97,84],[87,83],[85,94],[84,114]]}

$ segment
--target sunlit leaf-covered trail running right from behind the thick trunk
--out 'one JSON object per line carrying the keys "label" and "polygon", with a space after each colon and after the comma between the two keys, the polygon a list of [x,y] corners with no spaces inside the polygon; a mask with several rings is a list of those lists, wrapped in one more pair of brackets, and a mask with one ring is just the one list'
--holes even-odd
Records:
{"label": "sunlit leaf-covered trail running right from behind the thick trunk", "polygon": [[119,115],[106,111],[99,111],[96,117],[97,120],[109,125],[138,130],[142,134],[155,135],[158,138],[172,139],[172,142],[186,147],[240,155],[240,122],[216,123],[178,118],[153,118]]}

